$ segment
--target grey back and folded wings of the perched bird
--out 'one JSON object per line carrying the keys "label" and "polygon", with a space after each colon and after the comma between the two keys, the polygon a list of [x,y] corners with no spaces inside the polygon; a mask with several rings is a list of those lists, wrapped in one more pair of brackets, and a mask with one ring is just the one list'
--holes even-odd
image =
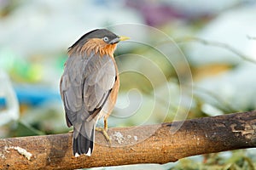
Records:
{"label": "grey back and folded wings of the perched bird", "polygon": [[70,56],[61,78],[61,98],[67,126],[81,126],[97,114],[113,88],[116,78],[113,59],[108,55]]}

